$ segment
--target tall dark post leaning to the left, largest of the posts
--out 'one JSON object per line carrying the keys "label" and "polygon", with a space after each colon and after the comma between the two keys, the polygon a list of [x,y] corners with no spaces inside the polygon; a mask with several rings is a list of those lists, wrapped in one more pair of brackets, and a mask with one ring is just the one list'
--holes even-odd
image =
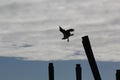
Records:
{"label": "tall dark post leaning to the left, largest of the posts", "polygon": [[82,43],[83,43],[83,46],[84,46],[84,49],[85,49],[85,52],[86,52],[86,55],[89,61],[89,65],[91,67],[91,70],[94,76],[94,79],[101,80],[99,70],[98,70],[98,67],[97,67],[93,52],[92,52],[92,48],[91,48],[88,36],[82,37]]}

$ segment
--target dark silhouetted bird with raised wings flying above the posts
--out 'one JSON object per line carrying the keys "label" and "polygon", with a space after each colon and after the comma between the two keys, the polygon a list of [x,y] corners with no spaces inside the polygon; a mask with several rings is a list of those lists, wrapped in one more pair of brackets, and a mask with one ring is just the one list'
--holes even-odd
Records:
{"label": "dark silhouetted bird with raised wings flying above the posts", "polygon": [[63,33],[62,40],[67,39],[67,42],[69,42],[69,37],[74,35],[74,34],[70,33],[70,32],[73,32],[74,29],[67,29],[67,30],[65,30],[65,29],[63,29],[62,27],[59,26],[59,30],[60,30],[60,32]]}

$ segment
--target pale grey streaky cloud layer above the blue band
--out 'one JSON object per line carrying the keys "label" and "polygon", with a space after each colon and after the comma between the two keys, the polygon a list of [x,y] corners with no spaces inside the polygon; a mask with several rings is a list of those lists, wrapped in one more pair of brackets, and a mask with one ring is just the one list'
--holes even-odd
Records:
{"label": "pale grey streaky cloud layer above the blue band", "polygon": [[[88,35],[97,61],[120,62],[119,14],[119,0],[0,0],[0,56],[84,61]],[[59,26],[75,29],[69,43]]]}

